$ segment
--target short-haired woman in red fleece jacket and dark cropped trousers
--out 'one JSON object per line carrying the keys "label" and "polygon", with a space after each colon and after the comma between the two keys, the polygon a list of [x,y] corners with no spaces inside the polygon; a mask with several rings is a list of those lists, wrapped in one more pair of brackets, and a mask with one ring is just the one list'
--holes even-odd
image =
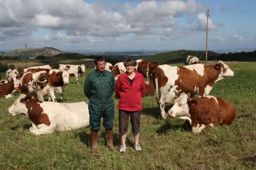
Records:
{"label": "short-haired woman in red fleece jacket and dark cropped trousers", "polygon": [[119,98],[119,133],[121,134],[122,145],[120,152],[126,151],[126,134],[131,115],[132,132],[135,140],[135,150],[141,151],[139,145],[139,125],[142,111],[142,96],[145,93],[145,80],[141,73],[135,71],[137,62],[134,59],[126,59],[124,66],[126,72],[119,75],[115,84],[115,93]]}

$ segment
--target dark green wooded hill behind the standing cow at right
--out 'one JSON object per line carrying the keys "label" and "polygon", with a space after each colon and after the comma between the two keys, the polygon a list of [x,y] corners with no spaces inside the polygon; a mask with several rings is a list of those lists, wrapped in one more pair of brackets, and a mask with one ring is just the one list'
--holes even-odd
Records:
{"label": "dark green wooded hill behind the standing cow at right", "polygon": [[[185,49],[167,52],[167,53],[155,54],[153,56],[144,58],[144,60],[156,61],[160,64],[172,63],[172,62],[184,62],[188,55],[196,56],[197,58],[199,58],[199,60],[205,60],[205,51],[185,50]],[[208,51],[207,59],[208,60],[216,59],[218,58],[219,55],[220,55],[219,53]]]}

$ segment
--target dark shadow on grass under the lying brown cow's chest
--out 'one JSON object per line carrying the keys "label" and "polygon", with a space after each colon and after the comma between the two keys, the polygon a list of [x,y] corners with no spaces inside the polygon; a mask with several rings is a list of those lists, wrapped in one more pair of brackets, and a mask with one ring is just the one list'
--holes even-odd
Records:
{"label": "dark shadow on grass under the lying brown cow's chest", "polygon": [[186,120],[183,124],[180,125],[173,125],[170,123],[170,121],[166,121],[164,125],[162,125],[159,129],[157,129],[158,134],[167,134],[168,130],[177,130],[177,129],[183,129],[185,131],[191,131],[190,123],[188,120]]}

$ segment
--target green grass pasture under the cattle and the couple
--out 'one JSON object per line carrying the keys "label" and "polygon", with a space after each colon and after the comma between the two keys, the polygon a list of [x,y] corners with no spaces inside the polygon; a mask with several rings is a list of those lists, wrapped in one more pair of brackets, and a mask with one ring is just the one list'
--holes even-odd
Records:
{"label": "green grass pasture under the cattle and the couple", "polygon": [[[179,64],[183,65],[183,64]],[[230,126],[215,127],[194,134],[182,128],[182,119],[160,119],[154,96],[143,98],[141,116],[142,152],[133,147],[131,123],[127,152],[119,153],[118,100],[115,101],[114,145],[106,147],[101,125],[98,154],[90,154],[90,128],[33,136],[27,117],[11,116],[7,109],[18,97],[0,99],[0,168],[6,169],[255,169],[256,167],[256,64],[230,63],[235,72],[231,79],[217,82],[210,95],[220,96],[235,105],[237,115]],[[75,84],[72,77],[64,93],[64,102],[88,99],[83,93],[87,70]],[[5,74],[2,73],[2,79]],[[56,95],[59,99],[59,95]],[[114,94],[113,94],[114,96]],[[166,107],[166,111],[171,105]]]}

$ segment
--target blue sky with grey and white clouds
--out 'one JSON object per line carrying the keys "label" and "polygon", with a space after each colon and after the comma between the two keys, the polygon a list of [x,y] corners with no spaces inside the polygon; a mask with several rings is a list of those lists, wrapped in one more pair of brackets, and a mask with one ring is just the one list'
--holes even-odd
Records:
{"label": "blue sky with grey and white clouds", "polygon": [[0,0],[0,51],[255,48],[255,0]]}

